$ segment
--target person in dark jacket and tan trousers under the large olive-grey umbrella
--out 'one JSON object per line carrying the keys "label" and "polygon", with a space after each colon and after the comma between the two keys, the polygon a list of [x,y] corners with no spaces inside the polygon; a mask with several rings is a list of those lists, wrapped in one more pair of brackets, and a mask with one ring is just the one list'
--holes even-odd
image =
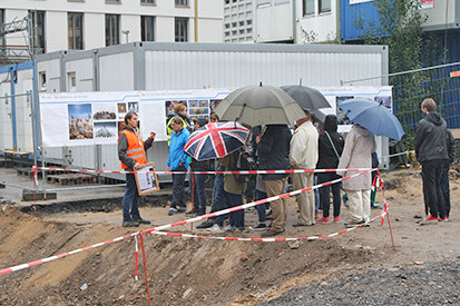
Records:
{"label": "person in dark jacket and tan trousers under the large olive-grey umbrella", "polygon": [[[291,131],[286,125],[267,125],[256,138],[258,147],[258,169],[261,170],[286,170],[290,165],[290,142]],[[268,197],[278,196],[286,191],[288,174],[263,175],[266,193]],[[271,203],[273,211],[272,228],[263,233],[262,236],[275,236],[284,231],[286,223],[286,207],[283,200]]]}

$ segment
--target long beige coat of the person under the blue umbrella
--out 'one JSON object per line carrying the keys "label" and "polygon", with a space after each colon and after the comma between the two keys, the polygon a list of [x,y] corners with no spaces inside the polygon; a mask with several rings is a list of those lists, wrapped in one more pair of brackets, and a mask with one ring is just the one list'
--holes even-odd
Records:
{"label": "long beige coat of the person under the blue umbrella", "polygon": [[[340,158],[339,169],[346,168],[371,168],[371,155],[375,151],[375,139],[372,132],[359,126],[353,126],[345,139]],[[340,176],[350,176],[359,171],[337,171]],[[371,189],[371,172],[354,178],[345,179],[342,187],[345,190],[368,190]]]}

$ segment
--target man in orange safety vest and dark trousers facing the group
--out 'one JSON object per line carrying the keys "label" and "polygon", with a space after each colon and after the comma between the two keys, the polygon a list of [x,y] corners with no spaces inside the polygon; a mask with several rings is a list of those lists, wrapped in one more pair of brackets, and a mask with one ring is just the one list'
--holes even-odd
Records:
{"label": "man in orange safety vest and dark trousers facing the group", "polygon": [[[146,150],[151,147],[155,132],[144,142],[140,131],[137,128],[137,113],[129,111],[125,116],[125,128],[118,136],[118,159],[125,171],[137,171],[143,164],[147,162]],[[139,214],[140,196],[137,193],[136,178],[134,174],[126,175],[126,193],[123,197],[123,226],[133,227],[139,224],[150,224],[149,220],[140,218]]]}

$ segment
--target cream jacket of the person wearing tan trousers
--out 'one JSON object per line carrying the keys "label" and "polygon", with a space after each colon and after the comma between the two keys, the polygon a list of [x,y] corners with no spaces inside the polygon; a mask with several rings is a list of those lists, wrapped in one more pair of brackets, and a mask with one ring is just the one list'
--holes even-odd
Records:
{"label": "cream jacket of the person wearing tan trousers", "polygon": [[290,161],[296,169],[314,169],[317,162],[316,128],[311,121],[303,122],[291,139]]}

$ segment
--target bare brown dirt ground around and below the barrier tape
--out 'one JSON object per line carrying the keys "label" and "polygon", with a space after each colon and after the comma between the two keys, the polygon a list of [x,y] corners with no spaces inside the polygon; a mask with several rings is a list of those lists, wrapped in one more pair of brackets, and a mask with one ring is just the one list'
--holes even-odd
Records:
{"label": "bare brown dirt ground around and below the barrier tape", "polygon": [[[325,277],[341,278],[350,270],[401,267],[460,258],[460,180],[452,171],[451,220],[420,224],[424,217],[420,169],[382,174],[390,200],[395,248],[385,220],[332,238],[287,243],[218,241],[198,238],[144,236],[153,305],[254,305],[274,299],[297,286]],[[382,196],[378,195],[378,204]],[[159,204],[160,205],[160,204]],[[282,237],[326,235],[344,229],[349,213],[342,207],[340,224],[294,228],[296,204],[288,199],[286,231]],[[107,213],[105,213],[107,211]],[[48,214],[36,218],[14,206],[0,210],[0,269],[58,255],[128,233],[121,211]],[[143,207],[151,226],[178,221],[167,208]],[[380,211],[373,209],[373,216]],[[246,225],[256,224],[247,211]],[[208,235],[184,225],[172,231]],[[260,237],[245,230],[234,236]],[[221,236],[232,236],[221,234]],[[0,305],[147,305],[144,268],[135,280],[133,238],[86,250],[50,263],[0,276]]]}

